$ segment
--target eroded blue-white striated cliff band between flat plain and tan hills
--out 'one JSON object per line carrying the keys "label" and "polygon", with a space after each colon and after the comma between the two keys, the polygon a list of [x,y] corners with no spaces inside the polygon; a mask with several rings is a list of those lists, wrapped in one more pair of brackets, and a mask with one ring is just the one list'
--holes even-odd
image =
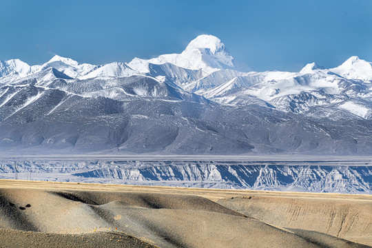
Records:
{"label": "eroded blue-white striated cliff band between flat plain and tan hills", "polygon": [[1,178],[372,194],[370,161],[11,161]]}

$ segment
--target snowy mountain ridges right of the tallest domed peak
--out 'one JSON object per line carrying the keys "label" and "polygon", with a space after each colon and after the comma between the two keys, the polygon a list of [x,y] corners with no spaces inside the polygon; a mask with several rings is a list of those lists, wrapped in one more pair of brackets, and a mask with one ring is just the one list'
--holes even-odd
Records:
{"label": "snowy mountain ridges right of the tallest domed peak", "polygon": [[[344,69],[344,65],[349,65],[353,60],[354,57],[340,67],[329,70],[316,63],[307,64],[300,72],[232,74],[221,70],[190,83],[185,89],[224,104],[249,104],[253,96],[285,112],[299,113],[311,107],[332,106],[362,118],[370,118],[372,81],[367,66],[370,63],[357,59],[355,63],[358,66]],[[361,69],[362,65],[365,70]],[[352,79],[350,75],[357,72],[359,76],[355,75]],[[218,80],[214,80],[216,74],[225,77],[219,76]],[[358,111],[358,108],[363,110]]]}

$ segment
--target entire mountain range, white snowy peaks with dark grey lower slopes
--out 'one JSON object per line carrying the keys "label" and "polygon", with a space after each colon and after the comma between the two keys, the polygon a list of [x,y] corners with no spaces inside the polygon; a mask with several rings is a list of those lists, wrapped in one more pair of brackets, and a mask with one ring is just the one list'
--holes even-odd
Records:
{"label": "entire mountain range, white snowy peaks with dark grey lower slopes", "polygon": [[372,154],[372,67],[253,72],[217,37],[130,63],[0,61],[2,151]]}

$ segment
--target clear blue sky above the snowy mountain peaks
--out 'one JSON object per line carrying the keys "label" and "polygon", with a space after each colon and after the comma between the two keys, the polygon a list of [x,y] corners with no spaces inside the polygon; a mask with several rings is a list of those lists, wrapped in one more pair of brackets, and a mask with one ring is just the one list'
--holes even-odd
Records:
{"label": "clear blue sky above the snowy mountain peaks", "polygon": [[181,52],[213,34],[258,71],[372,61],[372,0],[0,0],[0,60],[52,54],[79,62],[130,61]]}

